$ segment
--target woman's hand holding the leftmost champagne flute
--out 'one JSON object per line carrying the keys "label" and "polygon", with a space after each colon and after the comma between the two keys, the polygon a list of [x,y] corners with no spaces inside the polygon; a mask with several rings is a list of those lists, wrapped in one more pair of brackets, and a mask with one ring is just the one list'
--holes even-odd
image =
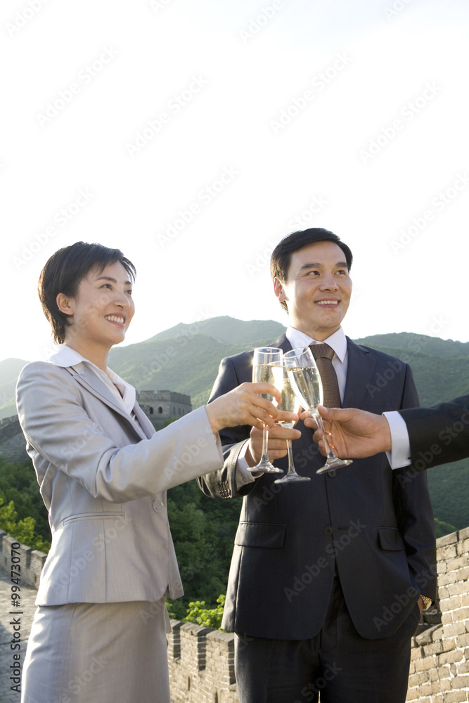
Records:
{"label": "woman's hand holding the leftmost champagne flute", "polygon": [[[281,392],[271,383],[241,383],[205,406],[213,432],[236,425],[252,425],[258,430],[262,430],[262,423],[274,427],[279,411],[259,393],[274,396],[281,402]],[[297,419],[294,413],[287,414]]]}

